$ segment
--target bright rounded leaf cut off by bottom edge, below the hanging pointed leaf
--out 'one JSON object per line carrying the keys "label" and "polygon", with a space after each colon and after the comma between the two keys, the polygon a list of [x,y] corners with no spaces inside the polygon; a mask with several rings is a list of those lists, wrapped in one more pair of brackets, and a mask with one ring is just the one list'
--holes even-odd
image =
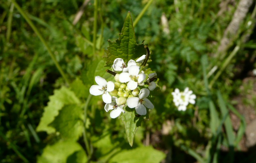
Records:
{"label": "bright rounded leaf cut off by bottom edge, below the hanging pointed leaf", "polygon": [[161,162],[166,155],[151,146],[139,147],[132,150],[123,150],[114,155],[109,163],[156,163]]}

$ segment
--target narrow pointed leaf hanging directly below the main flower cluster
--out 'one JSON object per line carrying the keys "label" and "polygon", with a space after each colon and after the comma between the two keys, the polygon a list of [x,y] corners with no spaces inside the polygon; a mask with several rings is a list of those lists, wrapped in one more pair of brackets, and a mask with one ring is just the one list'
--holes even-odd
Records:
{"label": "narrow pointed leaf hanging directly below the main flower cluster", "polygon": [[122,114],[121,118],[124,123],[127,140],[129,144],[133,146],[134,135],[141,125],[144,116],[136,117],[133,109],[126,108],[126,111]]}

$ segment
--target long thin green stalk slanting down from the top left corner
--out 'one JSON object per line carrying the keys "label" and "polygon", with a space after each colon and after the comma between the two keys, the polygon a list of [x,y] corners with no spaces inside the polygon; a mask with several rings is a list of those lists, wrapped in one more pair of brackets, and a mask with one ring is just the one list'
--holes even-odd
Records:
{"label": "long thin green stalk slanting down from the top left corner", "polygon": [[57,60],[54,57],[53,52],[51,51],[50,47],[48,46],[48,44],[46,43],[45,39],[42,37],[42,35],[39,33],[39,31],[37,30],[37,28],[35,27],[35,25],[32,23],[32,21],[28,18],[28,16],[24,13],[24,11],[20,8],[20,6],[15,2],[15,0],[11,0],[12,3],[14,4],[14,6],[17,8],[17,10],[20,12],[20,14],[24,17],[24,19],[27,21],[27,23],[30,25],[30,27],[33,29],[33,31],[35,32],[35,34],[38,36],[38,38],[40,39],[40,41],[44,44],[44,46],[46,47],[48,53],[50,54],[52,60],[54,61],[55,66],[57,67],[57,69],[59,70],[61,76],[63,77],[63,79],[66,81],[66,83],[69,85],[69,80],[66,77],[65,73],[63,72],[63,70],[61,69],[59,63],[57,62]]}

